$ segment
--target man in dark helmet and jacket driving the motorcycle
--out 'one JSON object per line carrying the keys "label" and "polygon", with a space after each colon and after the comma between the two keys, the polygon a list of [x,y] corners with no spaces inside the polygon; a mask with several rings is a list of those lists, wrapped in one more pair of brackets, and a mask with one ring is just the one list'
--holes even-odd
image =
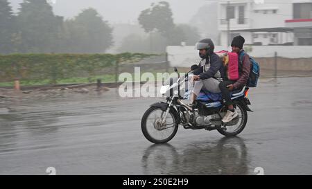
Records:
{"label": "man in dark helmet and jacket driving the motorcycle", "polygon": [[196,44],[202,60],[198,69],[193,71],[194,88],[191,94],[192,103],[196,100],[202,87],[211,93],[220,93],[219,84],[225,77],[223,62],[214,53],[214,42],[211,39],[202,39]]}

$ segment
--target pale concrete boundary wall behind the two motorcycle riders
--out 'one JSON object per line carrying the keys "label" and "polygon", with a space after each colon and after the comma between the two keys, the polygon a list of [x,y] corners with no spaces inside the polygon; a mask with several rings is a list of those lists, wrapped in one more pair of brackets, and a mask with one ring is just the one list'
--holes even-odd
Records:
{"label": "pale concrete boundary wall behind the two motorcycle riders", "polygon": [[[247,48],[247,47],[246,47]],[[230,50],[216,46],[215,51]],[[170,66],[190,67],[200,62],[194,46],[167,46]],[[274,69],[275,51],[279,70],[312,71],[312,46],[252,46],[250,56],[254,57],[263,69]]]}

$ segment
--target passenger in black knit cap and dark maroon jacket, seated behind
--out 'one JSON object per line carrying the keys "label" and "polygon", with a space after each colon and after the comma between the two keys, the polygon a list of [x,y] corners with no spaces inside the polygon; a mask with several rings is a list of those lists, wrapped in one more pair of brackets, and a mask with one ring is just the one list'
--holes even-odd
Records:
{"label": "passenger in black knit cap and dark maroon jacket, seated behind", "polygon": [[[245,39],[241,37],[241,35],[234,37],[232,41],[232,53],[239,54],[239,57],[243,50],[243,44],[245,43]],[[247,53],[243,55],[243,58],[239,60],[240,69],[239,69],[239,80],[232,81],[232,80],[224,80],[220,82],[219,87],[222,91],[223,99],[225,100],[225,105],[227,105],[228,110],[227,114],[225,114],[224,118],[222,119],[223,123],[229,123],[231,120],[239,116],[239,114],[235,111],[233,107],[233,102],[231,100],[230,91],[234,89],[243,89],[245,84],[247,84],[249,79],[250,73],[250,57]]]}

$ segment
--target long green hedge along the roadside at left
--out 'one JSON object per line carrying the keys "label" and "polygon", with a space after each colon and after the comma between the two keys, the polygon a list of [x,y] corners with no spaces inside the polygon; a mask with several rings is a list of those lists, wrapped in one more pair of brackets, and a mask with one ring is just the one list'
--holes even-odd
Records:
{"label": "long green hedge along the roadside at left", "polygon": [[116,62],[138,62],[155,55],[141,53],[112,54],[12,54],[0,55],[0,82],[19,80],[57,80],[89,77],[98,70],[115,66]]}

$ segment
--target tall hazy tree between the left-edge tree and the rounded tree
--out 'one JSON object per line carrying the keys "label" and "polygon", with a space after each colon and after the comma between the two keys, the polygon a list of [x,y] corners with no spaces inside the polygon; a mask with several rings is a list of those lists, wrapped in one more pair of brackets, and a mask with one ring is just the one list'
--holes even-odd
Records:
{"label": "tall hazy tree between the left-edge tree and the rounded tree", "polygon": [[21,53],[53,53],[58,51],[62,17],[55,16],[52,7],[42,0],[24,0],[17,24],[21,35]]}

